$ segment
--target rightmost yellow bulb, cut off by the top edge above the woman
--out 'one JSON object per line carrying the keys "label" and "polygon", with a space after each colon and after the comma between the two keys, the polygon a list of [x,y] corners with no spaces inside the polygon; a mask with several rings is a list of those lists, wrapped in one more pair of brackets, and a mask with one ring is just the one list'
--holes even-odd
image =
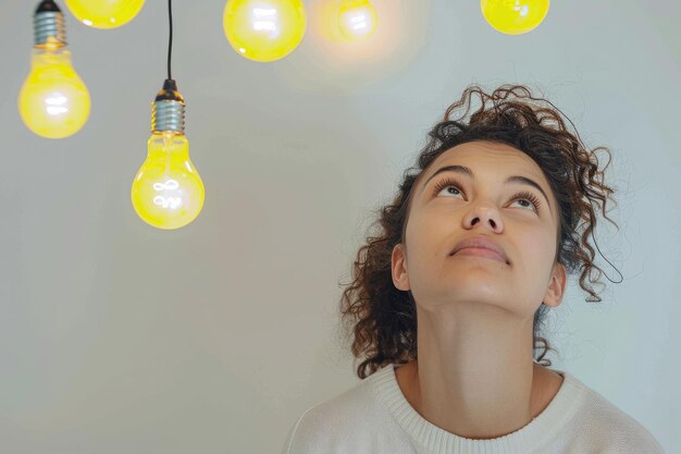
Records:
{"label": "rightmost yellow bulb, cut off by the top edge above the woman", "polygon": [[482,14],[492,27],[508,35],[534,29],[548,13],[549,0],[481,0]]}

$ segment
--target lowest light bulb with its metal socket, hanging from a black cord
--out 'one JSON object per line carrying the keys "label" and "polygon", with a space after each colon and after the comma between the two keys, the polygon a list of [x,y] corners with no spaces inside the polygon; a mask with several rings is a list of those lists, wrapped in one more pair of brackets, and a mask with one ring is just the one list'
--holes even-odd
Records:
{"label": "lowest light bulb with its metal socket, hanging from a black cord", "polygon": [[184,100],[175,82],[166,79],[154,101],[152,134],[131,199],[137,216],[158,229],[178,229],[194,221],[203,208],[206,192],[189,159],[184,134]]}

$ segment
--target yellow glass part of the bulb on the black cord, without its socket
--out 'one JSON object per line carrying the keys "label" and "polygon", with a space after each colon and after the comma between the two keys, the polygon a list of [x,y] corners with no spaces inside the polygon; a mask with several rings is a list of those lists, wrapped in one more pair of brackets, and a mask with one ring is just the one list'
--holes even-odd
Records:
{"label": "yellow glass part of the bulb on the black cord, without its socket", "polygon": [[131,191],[137,216],[158,229],[178,229],[199,216],[205,197],[203,182],[189,160],[185,135],[154,132]]}

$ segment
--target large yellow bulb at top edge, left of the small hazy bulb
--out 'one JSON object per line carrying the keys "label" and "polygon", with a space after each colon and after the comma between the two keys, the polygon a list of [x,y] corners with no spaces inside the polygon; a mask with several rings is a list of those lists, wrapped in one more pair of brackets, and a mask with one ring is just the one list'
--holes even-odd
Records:
{"label": "large yellow bulb at top edge, left of the small hazy bulb", "polygon": [[286,57],[300,44],[307,15],[301,0],[228,0],[222,25],[239,56],[269,62]]}

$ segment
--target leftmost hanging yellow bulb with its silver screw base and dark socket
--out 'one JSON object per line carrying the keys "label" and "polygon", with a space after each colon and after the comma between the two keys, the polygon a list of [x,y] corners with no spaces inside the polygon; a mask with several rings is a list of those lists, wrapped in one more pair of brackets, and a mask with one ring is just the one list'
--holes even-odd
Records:
{"label": "leftmost hanging yellow bulb with its silver screw base and dark socket", "polygon": [[90,94],[71,64],[64,16],[53,0],[34,14],[30,72],[18,94],[18,113],[32,132],[63,138],[78,132],[90,113]]}

